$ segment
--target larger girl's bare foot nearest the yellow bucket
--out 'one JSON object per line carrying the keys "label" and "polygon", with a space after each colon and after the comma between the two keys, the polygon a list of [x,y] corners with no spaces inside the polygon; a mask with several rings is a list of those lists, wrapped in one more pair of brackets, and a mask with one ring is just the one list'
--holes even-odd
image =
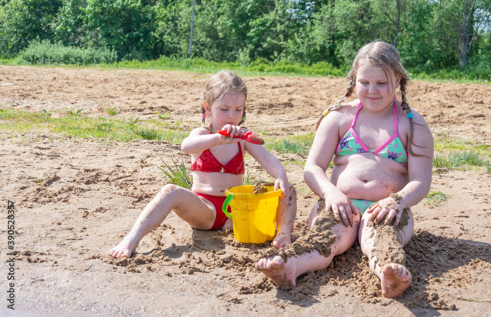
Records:
{"label": "larger girl's bare foot nearest the yellow bucket", "polygon": [[296,286],[296,268],[292,259],[285,263],[282,257],[275,255],[262,258],[256,263],[256,268],[273,280],[277,286]]}

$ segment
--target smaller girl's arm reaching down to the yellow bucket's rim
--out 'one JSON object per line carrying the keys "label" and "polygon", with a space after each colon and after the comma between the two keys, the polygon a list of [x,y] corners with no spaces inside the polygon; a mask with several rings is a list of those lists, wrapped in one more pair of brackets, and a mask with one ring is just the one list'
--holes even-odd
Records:
{"label": "smaller girl's arm reaching down to the yellow bucket's rim", "polygon": [[287,198],[290,194],[290,184],[283,164],[271,152],[259,144],[246,142],[246,151],[253,157],[271,176],[274,177],[274,190],[281,188],[281,198]]}

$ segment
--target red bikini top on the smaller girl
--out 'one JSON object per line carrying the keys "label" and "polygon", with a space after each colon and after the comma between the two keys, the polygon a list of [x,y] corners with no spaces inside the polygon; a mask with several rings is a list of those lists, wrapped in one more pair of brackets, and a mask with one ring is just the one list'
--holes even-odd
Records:
{"label": "red bikini top on the smaller girl", "polygon": [[237,144],[239,145],[239,153],[237,153],[237,155],[229,160],[225,165],[220,163],[208,149],[204,150],[199,158],[192,163],[191,171],[201,171],[205,173],[218,172],[235,175],[244,174],[246,169],[244,167],[242,147],[240,142]]}

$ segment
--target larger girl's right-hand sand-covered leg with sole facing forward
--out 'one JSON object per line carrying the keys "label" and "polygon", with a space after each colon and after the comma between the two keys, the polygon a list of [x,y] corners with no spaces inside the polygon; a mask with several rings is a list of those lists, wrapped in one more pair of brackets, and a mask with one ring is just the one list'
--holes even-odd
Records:
{"label": "larger girl's right-hand sand-covered leg with sole facing forward", "polygon": [[411,273],[406,268],[406,252],[403,247],[414,231],[414,221],[409,209],[402,211],[397,227],[384,224],[384,219],[375,224],[365,213],[360,226],[360,245],[369,259],[370,270],[381,282],[382,296],[401,298],[411,283]]}

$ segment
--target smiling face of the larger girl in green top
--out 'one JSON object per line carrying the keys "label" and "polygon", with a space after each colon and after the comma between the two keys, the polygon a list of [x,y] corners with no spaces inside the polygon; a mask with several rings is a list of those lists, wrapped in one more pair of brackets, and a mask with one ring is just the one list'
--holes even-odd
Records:
{"label": "smiling face of the larger girl in green top", "polygon": [[394,92],[399,87],[400,77],[396,77],[392,70],[387,75],[382,68],[372,65],[363,65],[356,74],[356,94],[363,107],[371,111],[381,111],[394,103]]}

